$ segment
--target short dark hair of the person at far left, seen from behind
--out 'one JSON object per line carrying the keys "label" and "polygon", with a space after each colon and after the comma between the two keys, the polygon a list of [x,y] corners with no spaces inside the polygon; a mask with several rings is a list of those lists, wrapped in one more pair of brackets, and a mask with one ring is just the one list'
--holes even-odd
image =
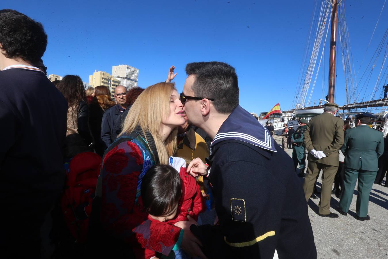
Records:
{"label": "short dark hair of the person at far left, seen from behind", "polygon": [[39,63],[46,51],[47,34],[41,23],[16,10],[0,10],[0,44],[5,57]]}

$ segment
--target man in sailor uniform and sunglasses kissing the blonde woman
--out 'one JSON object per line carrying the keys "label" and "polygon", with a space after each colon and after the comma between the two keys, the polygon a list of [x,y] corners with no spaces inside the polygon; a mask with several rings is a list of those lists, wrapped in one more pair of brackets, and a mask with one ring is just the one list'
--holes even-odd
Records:
{"label": "man in sailor uniform and sunglasses kissing the blonde woman", "polygon": [[[293,161],[239,106],[236,71],[221,62],[190,63],[180,99],[189,123],[212,139],[207,176],[216,226],[182,226],[192,256],[194,233],[208,258],[316,258],[314,236]],[[196,175],[199,163],[187,170]],[[191,243],[191,245],[193,242]]]}

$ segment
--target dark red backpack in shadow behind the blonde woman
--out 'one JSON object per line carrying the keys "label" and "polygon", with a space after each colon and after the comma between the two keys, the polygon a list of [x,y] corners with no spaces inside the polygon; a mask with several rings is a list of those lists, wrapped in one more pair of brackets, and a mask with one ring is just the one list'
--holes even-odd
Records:
{"label": "dark red backpack in shadow behind the blonde woman", "polygon": [[66,187],[61,199],[64,220],[78,243],[86,241],[92,202],[102,158],[92,152],[73,157],[66,173]]}

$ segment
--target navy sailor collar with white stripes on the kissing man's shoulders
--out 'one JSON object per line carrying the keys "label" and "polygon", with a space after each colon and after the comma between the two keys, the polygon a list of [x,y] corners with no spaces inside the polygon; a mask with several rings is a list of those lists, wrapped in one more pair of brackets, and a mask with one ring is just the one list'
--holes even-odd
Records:
{"label": "navy sailor collar with white stripes on the kissing man's shoulders", "polygon": [[211,143],[211,147],[218,142],[230,139],[244,141],[276,152],[274,139],[270,136],[268,130],[241,106],[237,106],[222,123],[213,139],[213,143]]}

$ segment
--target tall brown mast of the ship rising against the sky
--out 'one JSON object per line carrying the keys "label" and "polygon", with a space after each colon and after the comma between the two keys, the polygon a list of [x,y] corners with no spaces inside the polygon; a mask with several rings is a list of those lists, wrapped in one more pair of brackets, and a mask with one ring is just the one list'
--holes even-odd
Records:
{"label": "tall brown mast of the ship rising against the sky", "polygon": [[329,103],[334,103],[334,85],[336,80],[336,50],[337,50],[337,5],[333,0],[331,14],[330,64],[329,64]]}

